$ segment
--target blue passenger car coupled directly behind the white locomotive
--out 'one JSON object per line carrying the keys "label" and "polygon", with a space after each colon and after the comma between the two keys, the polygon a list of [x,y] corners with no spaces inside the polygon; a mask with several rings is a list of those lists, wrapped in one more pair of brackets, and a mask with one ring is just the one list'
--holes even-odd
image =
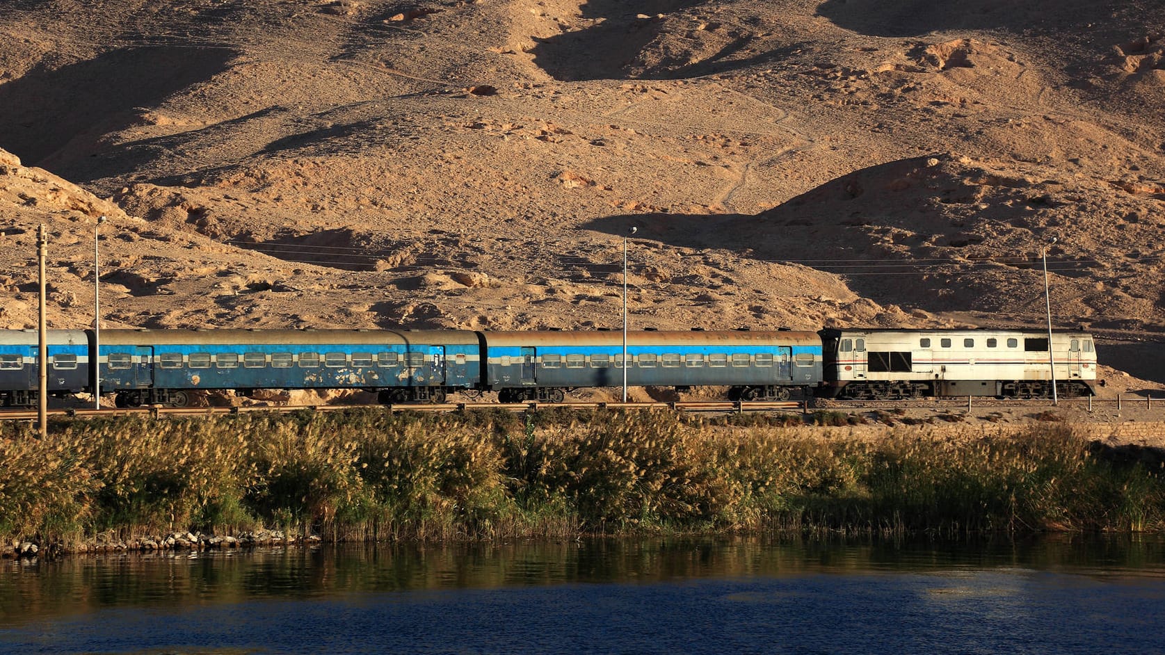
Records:
{"label": "blue passenger car coupled directly behind the white locomotive", "polygon": [[[577,387],[623,383],[622,332],[482,332],[485,383],[502,402],[560,402]],[[728,386],[733,400],[788,399],[821,381],[821,340],[791,331],[635,331],[633,387]]]}

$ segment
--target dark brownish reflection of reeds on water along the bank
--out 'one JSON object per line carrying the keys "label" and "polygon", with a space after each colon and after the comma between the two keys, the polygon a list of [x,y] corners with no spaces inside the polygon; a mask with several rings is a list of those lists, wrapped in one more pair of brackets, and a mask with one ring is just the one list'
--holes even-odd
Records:
{"label": "dark brownish reflection of reeds on water along the bank", "polygon": [[156,608],[353,592],[1008,568],[1165,577],[1165,540],[1136,535],[976,543],[588,540],[8,559],[0,569],[0,625],[101,607]]}

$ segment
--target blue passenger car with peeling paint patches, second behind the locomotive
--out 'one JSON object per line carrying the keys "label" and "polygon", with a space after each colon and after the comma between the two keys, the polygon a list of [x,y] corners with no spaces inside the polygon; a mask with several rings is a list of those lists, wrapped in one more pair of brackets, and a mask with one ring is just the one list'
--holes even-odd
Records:
{"label": "blue passenger car with peeling paint patches, second behind the locomotive", "polygon": [[467,331],[103,330],[101,389],[118,404],[184,406],[195,389],[366,389],[442,402],[480,381]]}

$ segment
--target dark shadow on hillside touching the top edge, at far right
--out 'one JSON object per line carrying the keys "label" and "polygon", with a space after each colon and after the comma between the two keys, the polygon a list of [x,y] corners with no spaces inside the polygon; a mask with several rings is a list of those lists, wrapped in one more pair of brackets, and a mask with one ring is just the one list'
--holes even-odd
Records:
{"label": "dark shadow on hillside touching the top edge, at far right", "polygon": [[867,36],[922,36],[952,29],[1058,29],[1109,19],[1115,3],[1089,0],[825,0],[817,14]]}

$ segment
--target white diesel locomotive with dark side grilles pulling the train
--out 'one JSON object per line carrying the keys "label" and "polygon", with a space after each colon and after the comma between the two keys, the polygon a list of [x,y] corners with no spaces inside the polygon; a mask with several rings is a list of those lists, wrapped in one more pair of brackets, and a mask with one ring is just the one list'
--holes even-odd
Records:
{"label": "white diesel locomotive with dark side grilles pulling the train", "polygon": [[[1088,395],[1096,379],[1093,337],[1016,330],[860,330],[819,332],[824,395],[1044,397]],[[1053,371],[1054,366],[1054,371]]]}

